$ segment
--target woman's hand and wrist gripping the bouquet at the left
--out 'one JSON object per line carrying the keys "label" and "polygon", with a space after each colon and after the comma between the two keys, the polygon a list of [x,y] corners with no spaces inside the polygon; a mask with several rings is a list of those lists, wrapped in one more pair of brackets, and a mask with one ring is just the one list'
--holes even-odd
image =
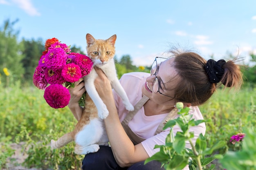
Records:
{"label": "woman's hand and wrist gripping the bouquet at the left", "polygon": [[74,88],[70,87],[68,90],[70,91],[70,102],[67,106],[73,113],[76,120],[79,121],[83,113],[83,108],[79,106],[78,101],[82,97],[83,93],[85,93],[83,78],[74,82]]}

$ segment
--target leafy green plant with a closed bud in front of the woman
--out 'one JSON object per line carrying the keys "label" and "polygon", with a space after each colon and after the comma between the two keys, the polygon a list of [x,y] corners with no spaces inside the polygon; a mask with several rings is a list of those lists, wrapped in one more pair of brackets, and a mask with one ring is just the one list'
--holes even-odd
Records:
{"label": "leafy green plant with a closed bud in front of the woman", "polygon": [[[214,166],[211,166],[209,169],[203,167],[211,163],[215,157],[205,156],[212,155],[214,150],[224,147],[225,142],[218,141],[211,148],[207,148],[206,138],[200,134],[194,146],[192,142],[194,133],[189,132],[189,129],[206,121],[192,119],[193,115],[189,115],[189,108],[183,108],[183,103],[178,102],[176,106],[180,117],[169,120],[166,123],[164,130],[171,128],[171,131],[166,137],[165,145],[156,145],[155,148],[160,148],[160,151],[146,159],[145,164],[149,161],[157,160],[162,163],[166,170],[183,170],[188,164],[190,170],[213,170]],[[173,126],[176,124],[182,131],[177,132],[174,136]],[[186,141],[189,141],[191,149],[185,148]]]}

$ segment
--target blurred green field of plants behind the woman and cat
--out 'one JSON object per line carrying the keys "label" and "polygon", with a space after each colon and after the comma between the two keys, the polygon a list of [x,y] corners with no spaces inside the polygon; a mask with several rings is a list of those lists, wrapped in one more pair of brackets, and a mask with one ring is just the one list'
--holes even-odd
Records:
{"label": "blurred green field of plants behind the woman and cat", "polygon": [[[227,147],[220,148],[218,153],[240,149],[240,145],[233,145],[229,140],[232,135],[243,132],[243,128],[256,125],[255,90],[247,84],[240,91],[220,88],[207,104],[200,106],[204,119],[211,120],[206,123],[207,146],[224,140]],[[0,169],[18,166],[16,159],[11,159],[13,144],[20,144],[26,155],[22,166],[43,170],[79,169],[83,156],[74,154],[74,143],[56,150],[49,147],[51,139],[70,132],[75,124],[67,107],[51,108],[43,98],[43,91],[36,87],[20,82],[0,84]]]}

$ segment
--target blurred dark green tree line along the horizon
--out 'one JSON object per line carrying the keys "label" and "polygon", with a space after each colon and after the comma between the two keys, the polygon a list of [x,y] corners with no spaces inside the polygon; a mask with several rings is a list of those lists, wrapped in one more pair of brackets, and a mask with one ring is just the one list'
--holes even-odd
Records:
{"label": "blurred dark green tree line along the horizon", "polygon": [[[19,80],[22,84],[33,84],[32,77],[38,60],[45,50],[44,41],[42,38],[34,40],[26,40],[22,38],[18,42],[19,31],[13,29],[13,26],[18,20],[10,21],[5,20],[2,27],[0,27],[0,82],[6,83],[7,79],[4,78],[6,74],[4,68],[7,68],[11,73],[13,81]],[[71,51],[75,53],[83,53],[81,47],[71,46]],[[250,54],[251,62],[256,63],[256,55]],[[123,55],[120,60],[114,57],[118,77],[124,73],[132,71],[150,71],[148,66],[135,66],[132,64],[130,55]],[[244,69],[245,81],[256,83],[256,65],[246,67]]]}

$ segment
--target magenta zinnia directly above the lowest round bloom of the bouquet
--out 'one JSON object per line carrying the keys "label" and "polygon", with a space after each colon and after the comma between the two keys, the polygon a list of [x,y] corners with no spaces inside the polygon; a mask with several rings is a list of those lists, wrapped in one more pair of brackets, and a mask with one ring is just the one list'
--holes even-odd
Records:
{"label": "magenta zinnia directly above the lowest round bloom of the bouquet", "polygon": [[49,84],[63,84],[65,82],[64,77],[61,75],[61,70],[53,71],[46,68],[45,79]]}

